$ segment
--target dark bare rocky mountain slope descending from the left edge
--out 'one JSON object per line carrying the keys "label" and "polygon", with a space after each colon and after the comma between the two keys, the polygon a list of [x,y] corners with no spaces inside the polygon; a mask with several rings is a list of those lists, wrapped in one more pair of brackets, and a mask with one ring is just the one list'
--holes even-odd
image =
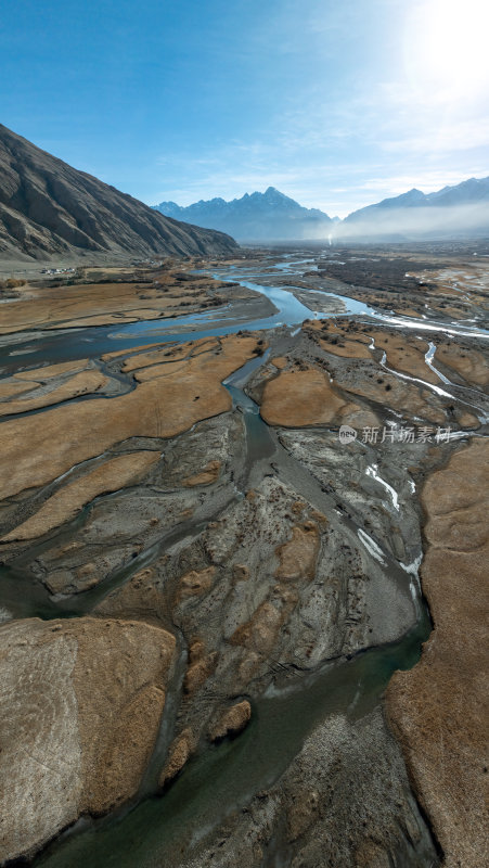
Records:
{"label": "dark bare rocky mountain slope descending from the left edge", "polygon": [[220,232],[181,225],[0,125],[0,258],[218,255]]}

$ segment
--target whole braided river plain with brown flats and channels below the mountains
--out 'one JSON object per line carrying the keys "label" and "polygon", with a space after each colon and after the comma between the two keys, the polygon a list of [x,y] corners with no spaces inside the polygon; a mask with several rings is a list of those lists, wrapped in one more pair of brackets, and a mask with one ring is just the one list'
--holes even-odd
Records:
{"label": "whole braided river plain with brown flats and channels below the mountains", "polygon": [[0,864],[479,868],[489,245],[15,277]]}

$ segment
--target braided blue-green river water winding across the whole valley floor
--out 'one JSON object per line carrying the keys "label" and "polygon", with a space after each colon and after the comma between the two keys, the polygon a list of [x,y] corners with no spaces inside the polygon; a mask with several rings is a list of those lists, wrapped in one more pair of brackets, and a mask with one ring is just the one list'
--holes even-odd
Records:
{"label": "braided blue-green river water winding across the whole valley floor", "polygon": [[[303,263],[306,265],[307,260]],[[291,260],[287,259],[283,267],[280,264],[275,267],[278,270],[282,268],[288,272],[291,266]],[[233,280],[236,277],[236,269],[220,269],[215,276],[222,280],[226,279],[224,275],[227,279]],[[98,357],[112,349],[140,346],[150,341],[182,342],[235,333],[243,328],[249,330],[279,326],[295,328],[304,319],[311,318],[311,310],[295,297],[292,288],[266,286],[252,280],[241,282],[268,299],[272,308],[267,316],[237,323],[226,322],[223,319],[222,324],[210,324],[209,317],[213,318],[213,322],[216,318],[219,322],[222,314],[229,314],[229,309],[227,311],[214,309],[211,314],[179,317],[166,323],[155,323],[153,320],[128,324],[118,328],[117,332],[114,332],[114,327],[82,329],[72,331],[69,334],[50,334],[39,341],[33,341],[30,335],[28,341],[21,340],[16,344],[3,347],[0,350],[0,365],[7,372],[26,363],[34,366],[85,356]],[[304,291],[304,288],[300,288],[300,292]],[[319,290],[314,289],[313,292],[318,293]],[[402,328],[445,331],[451,334],[477,336],[488,334],[480,329],[460,329],[456,326],[447,328],[443,324],[421,323],[419,320],[409,320],[406,317],[389,316],[347,296],[325,294],[342,303],[343,316],[360,315]],[[332,315],[312,311],[312,316],[325,318]],[[182,328],[184,331],[180,331]],[[428,363],[432,358],[433,355],[427,358]],[[233,398],[234,408],[244,416],[246,474],[258,461],[269,459],[276,450],[276,438],[261,420],[257,405],[243,390],[250,373],[262,362],[263,358],[254,358],[224,382]],[[393,506],[398,509],[395,490],[377,475],[376,471],[377,468],[373,465],[371,474],[388,490]],[[237,490],[236,497],[240,496],[242,494]],[[87,510],[90,508],[87,507],[75,520],[75,525],[70,526],[72,532],[74,526],[78,526],[77,523],[79,526],[83,524]],[[100,599],[125,582],[136,570],[159,557],[164,549],[185,539],[186,536],[195,536],[204,526],[205,524],[195,526],[190,522],[189,525],[171,531],[152,549],[114,574],[108,582],[64,600],[55,600],[39,584],[23,579],[22,569],[18,566],[15,570],[3,567],[0,577],[0,602],[7,608],[12,605],[17,617],[35,614],[44,618],[79,616],[89,612]],[[358,528],[351,526],[351,533],[358,533]],[[377,544],[374,540],[370,542],[372,557],[377,557]],[[30,550],[29,557],[31,553]],[[379,556],[385,558],[382,549]],[[385,569],[394,569],[388,559],[384,563]],[[397,569],[400,574],[403,573],[406,582],[409,582],[410,577],[406,575],[406,570],[402,571],[399,566]],[[299,752],[304,740],[314,726],[336,712],[355,719],[365,714],[379,702],[393,672],[397,668],[410,668],[416,662],[421,653],[421,643],[429,633],[429,618],[421,600],[419,586],[415,587],[415,623],[403,637],[383,647],[370,648],[351,660],[343,658],[325,662],[312,672],[303,672],[289,677],[272,693],[253,702],[252,723],[237,739],[209,746],[195,756],[169,790],[163,796],[157,796],[153,794],[156,780],[155,764],[160,762],[162,752],[169,740],[169,725],[164,720],[159,749],[155,752],[152,768],[140,792],[142,801],[131,805],[130,809],[126,806],[121,812],[99,820],[80,820],[73,830],[62,834],[48,850],[38,855],[33,864],[39,868],[40,866],[78,868],[82,865],[88,865],[90,868],[110,868],[110,866],[145,868],[145,866],[168,864],[167,860],[171,859],[173,859],[171,864],[177,864],[182,844],[186,852],[189,842],[196,843],[228,813],[245,805],[254,793],[276,781]],[[179,671],[178,678],[180,676]],[[175,709],[171,713],[173,712]]]}

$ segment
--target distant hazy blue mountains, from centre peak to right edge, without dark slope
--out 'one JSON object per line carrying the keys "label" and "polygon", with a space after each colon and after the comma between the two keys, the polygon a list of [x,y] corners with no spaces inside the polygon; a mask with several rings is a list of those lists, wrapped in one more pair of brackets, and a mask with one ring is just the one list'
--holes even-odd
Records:
{"label": "distant hazy blue mountains, from centre peak to right edge, without dark slope", "polygon": [[269,187],[241,199],[201,200],[182,207],[175,202],[153,206],[160,214],[197,226],[220,229],[239,241],[300,239],[410,240],[461,234],[489,234],[489,178],[471,178],[435,193],[410,190],[349,214],[331,218],[305,208]]}

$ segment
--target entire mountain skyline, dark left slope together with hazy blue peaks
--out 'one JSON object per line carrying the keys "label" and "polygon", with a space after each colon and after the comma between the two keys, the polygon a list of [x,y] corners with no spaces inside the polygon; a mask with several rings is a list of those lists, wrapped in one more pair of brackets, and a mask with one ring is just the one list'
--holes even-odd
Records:
{"label": "entire mountain skyline, dark left slope together with hazy blue peaks", "polygon": [[[344,220],[274,187],[241,199],[150,207],[0,125],[0,259],[216,256],[234,241],[399,241],[489,235],[489,177],[410,190]],[[232,235],[232,238],[231,238]]]}

